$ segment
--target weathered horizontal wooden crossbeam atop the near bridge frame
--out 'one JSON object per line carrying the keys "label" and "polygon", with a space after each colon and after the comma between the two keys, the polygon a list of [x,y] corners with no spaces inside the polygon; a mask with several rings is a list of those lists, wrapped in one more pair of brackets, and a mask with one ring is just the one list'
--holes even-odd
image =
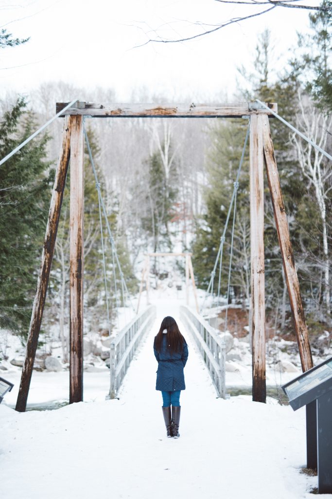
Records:
{"label": "weathered horizontal wooden crossbeam atop the near bridge frame", "polygon": [[[59,113],[68,103],[57,102]],[[266,102],[274,112],[278,112],[275,102]],[[78,102],[67,109],[67,114],[88,115],[92,118],[241,118],[251,114],[268,114],[268,111],[256,102],[238,104],[110,104]],[[272,114],[268,116],[273,117]]]}

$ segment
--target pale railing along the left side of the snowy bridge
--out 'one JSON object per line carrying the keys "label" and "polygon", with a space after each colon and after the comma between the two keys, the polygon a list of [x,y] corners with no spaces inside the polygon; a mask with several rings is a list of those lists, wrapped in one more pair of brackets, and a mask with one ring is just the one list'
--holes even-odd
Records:
{"label": "pale railing along the left side of the snowy bridge", "polygon": [[156,307],[151,305],[121,329],[111,342],[109,395],[111,399],[115,398],[139,342],[144,333],[151,327],[155,316]]}

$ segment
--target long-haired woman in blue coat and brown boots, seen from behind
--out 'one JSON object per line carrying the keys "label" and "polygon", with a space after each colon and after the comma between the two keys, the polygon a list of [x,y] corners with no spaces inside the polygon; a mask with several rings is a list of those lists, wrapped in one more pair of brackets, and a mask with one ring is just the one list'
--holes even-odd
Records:
{"label": "long-haired woman in blue coat and brown boots, seen from behind", "polygon": [[180,393],[186,389],[183,368],[188,359],[188,346],[173,317],[163,319],[154,338],[153,351],[158,362],[156,390],[160,390],[163,397],[167,437],[178,438]]}

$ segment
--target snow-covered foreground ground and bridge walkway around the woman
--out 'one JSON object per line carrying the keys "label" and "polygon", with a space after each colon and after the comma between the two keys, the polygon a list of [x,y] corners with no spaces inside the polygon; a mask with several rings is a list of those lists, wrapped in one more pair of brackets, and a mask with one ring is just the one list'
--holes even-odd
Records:
{"label": "snow-covered foreground ground and bridge walkway around the woman", "polygon": [[[3,499],[299,499],[308,479],[304,412],[221,400],[189,344],[181,438],[167,439],[155,391],[157,320],[132,361],[119,400],[18,414],[0,406]],[[315,480],[315,479],[313,479]],[[332,497],[332,496],[325,496]]]}

